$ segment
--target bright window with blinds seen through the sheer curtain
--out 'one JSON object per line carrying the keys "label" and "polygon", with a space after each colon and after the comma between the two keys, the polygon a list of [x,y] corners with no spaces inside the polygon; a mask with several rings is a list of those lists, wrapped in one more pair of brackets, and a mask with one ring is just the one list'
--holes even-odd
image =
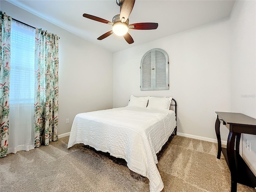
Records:
{"label": "bright window with blinds seen through the sheer curtain", "polygon": [[35,29],[12,20],[10,103],[34,103]]}

